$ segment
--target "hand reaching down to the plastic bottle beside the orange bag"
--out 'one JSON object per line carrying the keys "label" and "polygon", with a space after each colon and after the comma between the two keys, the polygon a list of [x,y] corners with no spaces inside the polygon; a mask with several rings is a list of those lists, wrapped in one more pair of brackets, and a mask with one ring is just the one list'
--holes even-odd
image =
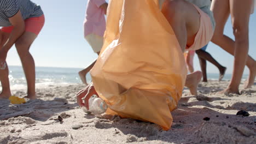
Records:
{"label": "hand reaching down to the plastic bottle beside the orange bag", "polygon": [[[95,91],[94,85],[91,82],[88,86],[77,93],[77,103],[80,106],[85,106],[87,110],[89,110],[89,99],[92,95],[96,94],[98,97],[97,92]],[[85,98],[84,98],[85,97]],[[82,98],[84,98],[84,103]]]}

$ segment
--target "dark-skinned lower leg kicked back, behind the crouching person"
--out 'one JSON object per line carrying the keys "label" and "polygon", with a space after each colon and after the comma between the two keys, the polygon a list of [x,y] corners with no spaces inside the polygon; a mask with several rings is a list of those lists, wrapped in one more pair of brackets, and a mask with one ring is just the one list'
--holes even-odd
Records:
{"label": "dark-skinned lower leg kicked back, behind the crouching person", "polygon": [[211,62],[213,65],[215,65],[218,69],[219,69],[219,81],[222,80],[222,78],[224,77],[224,74],[226,72],[226,67],[223,67],[222,65],[220,65],[212,56],[210,53],[203,51],[203,50],[196,50],[196,54],[202,58],[205,59],[209,62]]}

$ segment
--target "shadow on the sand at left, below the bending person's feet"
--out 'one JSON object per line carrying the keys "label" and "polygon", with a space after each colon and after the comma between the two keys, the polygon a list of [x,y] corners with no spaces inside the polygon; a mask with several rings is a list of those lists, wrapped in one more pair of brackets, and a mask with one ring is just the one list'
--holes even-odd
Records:
{"label": "shadow on the sand at left, below the bending person's feet", "polygon": [[68,104],[63,98],[54,100],[30,100],[25,104],[13,105],[9,100],[0,100],[0,120],[6,120],[11,117],[25,116],[36,121],[45,122],[55,113],[60,113],[75,109],[78,104]]}

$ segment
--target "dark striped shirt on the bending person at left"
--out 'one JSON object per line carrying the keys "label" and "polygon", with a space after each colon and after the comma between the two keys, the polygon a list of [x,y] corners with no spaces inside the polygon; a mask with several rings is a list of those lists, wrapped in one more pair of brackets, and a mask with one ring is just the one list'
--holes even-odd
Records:
{"label": "dark striped shirt on the bending person at left", "polygon": [[30,0],[0,0],[0,26],[11,26],[8,18],[13,17],[19,10],[24,20],[43,15],[40,6]]}

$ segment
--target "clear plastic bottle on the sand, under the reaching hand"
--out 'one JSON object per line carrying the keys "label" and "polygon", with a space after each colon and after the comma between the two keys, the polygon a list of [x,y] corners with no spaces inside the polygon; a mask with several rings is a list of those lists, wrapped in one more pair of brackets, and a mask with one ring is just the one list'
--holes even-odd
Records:
{"label": "clear plastic bottle on the sand, under the reaching hand", "polygon": [[82,108],[86,113],[102,114],[108,109],[107,104],[101,98],[91,97],[89,99],[89,110]]}

